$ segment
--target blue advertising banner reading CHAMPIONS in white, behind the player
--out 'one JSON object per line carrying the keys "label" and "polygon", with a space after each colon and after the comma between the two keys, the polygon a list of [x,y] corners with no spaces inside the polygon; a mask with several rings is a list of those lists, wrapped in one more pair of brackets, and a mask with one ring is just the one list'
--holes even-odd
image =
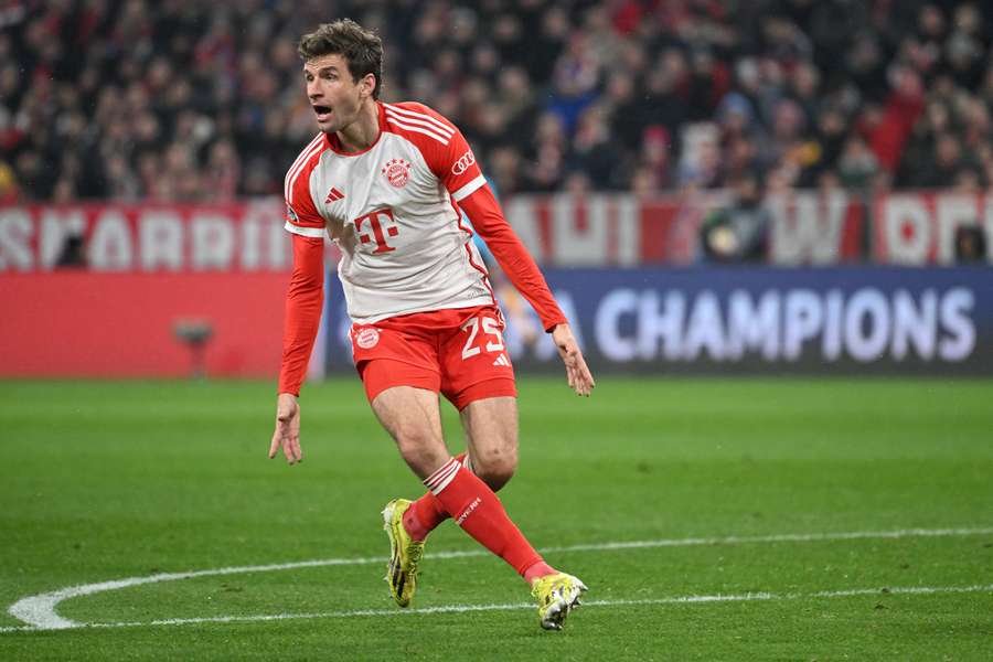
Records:
{"label": "blue advertising banner reading CHAMPIONS in white, behind the player", "polygon": [[[993,374],[993,269],[549,269],[597,371]],[[332,278],[329,370],[352,370]],[[498,287],[519,371],[560,370],[530,307]]]}

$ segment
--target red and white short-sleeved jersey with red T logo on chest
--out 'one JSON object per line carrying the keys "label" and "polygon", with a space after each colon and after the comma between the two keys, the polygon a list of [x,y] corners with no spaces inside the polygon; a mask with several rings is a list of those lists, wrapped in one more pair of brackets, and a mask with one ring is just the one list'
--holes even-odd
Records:
{"label": "red and white short-sleeved jersey with red T logo on chest", "polygon": [[380,137],[346,152],[319,134],[286,175],[286,228],[325,233],[354,322],[494,302],[456,203],[485,180],[462,134],[416,103],[377,102]]}

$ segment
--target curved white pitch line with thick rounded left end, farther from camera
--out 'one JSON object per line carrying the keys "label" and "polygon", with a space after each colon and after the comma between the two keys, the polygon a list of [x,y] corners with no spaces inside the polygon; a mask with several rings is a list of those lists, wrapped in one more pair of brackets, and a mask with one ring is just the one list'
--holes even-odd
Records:
{"label": "curved white pitch line with thick rounded left end, farther from camera", "polygon": [[[973,527],[973,528],[903,528],[898,531],[855,531],[839,533],[798,533],[798,534],[777,534],[777,535],[757,535],[757,536],[724,536],[724,537],[693,537],[693,538],[661,538],[654,541],[627,541],[627,542],[607,542],[591,543],[586,545],[570,545],[565,547],[544,547],[540,549],[543,554],[554,554],[560,552],[609,552],[613,549],[645,549],[652,547],[686,547],[695,545],[740,545],[740,544],[761,544],[761,543],[811,543],[826,541],[851,541],[851,540],[895,540],[906,537],[947,537],[947,536],[967,536],[967,535],[985,535],[993,534],[993,527]],[[469,549],[456,552],[436,552],[428,554],[430,558],[467,558],[474,556],[487,556],[489,552],[483,549]],[[354,558],[323,558],[314,560],[300,560],[293,563],[257,565],[257,566],[238,566],[212,568],[206,570],[193,570],[188,573],[160,573],[157,575],[148,575],[145,577],[128,577],[125,579],[115,579],[111,581],[100,581],[97,584],[84,584],[79,586],[70,586],[51,592],[39,594],[22,598],[11,605],[8,613],[23,621],[32,629],[40,630],[61,630],[67,628],[81,627],[85,623],[62,618],[55,611],[55,608],[63,600],[89,596],[108,590],[117,590],[121,588],[130,588],[132,586],[141,586],[143,584],[157,584],[160,581],[177,581],[180,579],[193,579],[196,577],[210,577],[216,575],[241,575],[247,573],[270,573],[276,570],[291,570],[297,568],[324,567],[324,566],[354,566],[369,565],[376,563],[385,563],[385,557],[354,557]],[[0,630],[6,631],[6,630]]]}

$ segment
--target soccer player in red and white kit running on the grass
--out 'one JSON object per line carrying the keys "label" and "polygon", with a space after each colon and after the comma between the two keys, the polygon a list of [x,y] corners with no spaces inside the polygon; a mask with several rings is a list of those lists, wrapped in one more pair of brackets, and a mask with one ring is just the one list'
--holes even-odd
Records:
{"label": "soccer player in red and white kit running on the grass", "polygon": [[[269,457],[281,447],[290,465],[302,459],[297,398],[320,321],[330,236],[341,248],[355,369],[376,417],[428,489],[383,511],[394,600],[410,604],[425,538],[451,517],[531,585],[542,627],[560,629],[586,586],[545,563],[494,494],[516,468],[516,389],[503,317],[460,207],[552,333],[569,386],[588,396],[592,375],[461,132],[420,104],[380,100],[380,38],[339,20],[305,35],[299,53],[320,132],[286,175],[293,273]],[[439,393],[466,429],[466,452],[455,458],[441,435]]]}

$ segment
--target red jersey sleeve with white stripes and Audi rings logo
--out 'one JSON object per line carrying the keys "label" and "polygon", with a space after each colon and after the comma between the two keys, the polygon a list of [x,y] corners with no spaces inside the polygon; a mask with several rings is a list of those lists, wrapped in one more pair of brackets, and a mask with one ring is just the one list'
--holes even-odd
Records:
{"label": "red jersey sleeve with white stripes and Audi rings logo", "polygon": [[436,139],[423,141],[421,153],[452,200],[460,202],[487,183],[472,148],[458,127],[421,104],[404,104],[404,109],[427,116],[423,121],[428,126],[423,128]]}

